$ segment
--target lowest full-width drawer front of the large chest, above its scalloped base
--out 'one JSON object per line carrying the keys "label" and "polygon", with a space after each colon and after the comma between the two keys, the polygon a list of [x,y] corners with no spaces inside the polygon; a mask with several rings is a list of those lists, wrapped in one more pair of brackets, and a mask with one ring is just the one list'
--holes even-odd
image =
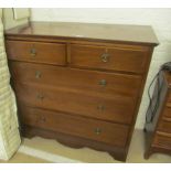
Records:
{"label": "lowest full-width drawer front of the large chest, above its scalloped base", "polygon": [[126,145],[127,126],[21,106],[20,114],[24,125],[70,133],[118,147],[125,147]]}

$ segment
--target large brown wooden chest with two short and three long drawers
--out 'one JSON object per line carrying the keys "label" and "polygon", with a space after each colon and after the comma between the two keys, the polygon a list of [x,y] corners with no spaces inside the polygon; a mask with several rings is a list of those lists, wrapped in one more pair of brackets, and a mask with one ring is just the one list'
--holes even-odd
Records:
{"label": "large brown wooden chest with two short and three long drawers", "polygon": [[157,44],[150,26],[36,22],[7,31],[22,135],[125,161]]}

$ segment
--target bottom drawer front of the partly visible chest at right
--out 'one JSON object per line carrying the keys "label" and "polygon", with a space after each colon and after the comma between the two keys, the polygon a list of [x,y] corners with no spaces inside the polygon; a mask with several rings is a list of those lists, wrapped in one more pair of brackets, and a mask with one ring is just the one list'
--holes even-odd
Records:
{"label": "bottom drawer front of the partly visible chest at right", "polygon": [[157,132],[153,146],[171,149],[171,135],[164,132]]}

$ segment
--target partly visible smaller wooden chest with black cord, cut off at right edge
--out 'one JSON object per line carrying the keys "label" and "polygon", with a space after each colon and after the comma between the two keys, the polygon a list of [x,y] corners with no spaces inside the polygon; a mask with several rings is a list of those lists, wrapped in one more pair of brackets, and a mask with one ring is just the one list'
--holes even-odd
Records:
{"label": "partly visible smaller wooden chest with black cord, cut off at right edge", "polygon": [[[161,89],[159,107],[153,113],[152,121],[148,121],[145,127],[146,159],[154,152],[171,154],[171,73],[163,71],[159,78],[160,87],[162,88],[156,86],[153,92],[153,104],[156,104],[154,99],[158,95],[158,89]],[[150,107],[147,119],[149,119],[149,116],[151,116]]]}

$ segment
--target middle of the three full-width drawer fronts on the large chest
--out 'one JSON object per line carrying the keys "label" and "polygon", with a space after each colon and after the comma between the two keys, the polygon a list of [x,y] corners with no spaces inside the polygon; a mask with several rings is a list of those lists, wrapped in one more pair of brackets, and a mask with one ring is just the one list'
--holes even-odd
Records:
{"label": "middle of the three full-width drawer fronts on the large chest", "polygon": [[18,100],[44,109],[73,113],[116,122],[130,124],[135,99],[51,86],[15,84]]}

